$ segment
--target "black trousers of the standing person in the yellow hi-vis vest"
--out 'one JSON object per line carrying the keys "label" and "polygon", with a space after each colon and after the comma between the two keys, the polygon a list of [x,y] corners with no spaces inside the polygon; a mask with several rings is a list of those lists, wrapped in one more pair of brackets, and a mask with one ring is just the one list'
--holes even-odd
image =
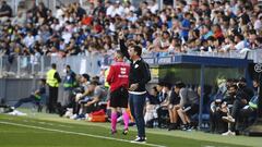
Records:
{"label": "black trousers of the standing person in the yellow hi-vis vest", "polygon": [[58,109],[57,100],[58,100],[58,87],[49,86],[49,99],[47,102],[47,109],[49,113],[57,112],[57,109]]}

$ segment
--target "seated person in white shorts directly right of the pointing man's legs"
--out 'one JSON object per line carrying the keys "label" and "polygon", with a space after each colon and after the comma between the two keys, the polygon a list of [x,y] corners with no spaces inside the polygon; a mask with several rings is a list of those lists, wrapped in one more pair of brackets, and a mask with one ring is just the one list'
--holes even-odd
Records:
{"label": "seated person in white shorts directly right of the pointing man's legs", "polygon": [[156,109],[160,103],[159,100],[157,99],[157,95],[158,95],[157,88],[156,86],[154,86],[151,89],[151,94],[148,94],[146,97],[144,120],[147,127],[153,127],[154,119],[157,119]]}

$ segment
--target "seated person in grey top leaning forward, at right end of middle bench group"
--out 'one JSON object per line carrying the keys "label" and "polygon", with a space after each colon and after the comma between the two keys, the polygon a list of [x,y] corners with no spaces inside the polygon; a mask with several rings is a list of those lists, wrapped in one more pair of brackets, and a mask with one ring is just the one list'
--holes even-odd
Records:
{"label": "seated person in grey top leaning forward, at right end of middle bench group", "polygon": [[177,112],[183,123],[181,128],[190,131],[192,127],[190,117],[199,112],[199,96],[193,89],[187,88],[183,83],[176,86],[180,88],[180,102]]}

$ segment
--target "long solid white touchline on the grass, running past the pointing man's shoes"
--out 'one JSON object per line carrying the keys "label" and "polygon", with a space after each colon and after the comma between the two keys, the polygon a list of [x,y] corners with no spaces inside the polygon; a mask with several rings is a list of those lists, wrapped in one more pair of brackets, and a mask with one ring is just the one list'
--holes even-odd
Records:
{"label": "long solid white touchline on the grass, running past the pointing man's shoes", "polygon": [[74,135],[82,135],[82,136],[88,136],[88,137],[94,137],[94,138],[118,140],[118,142],[124,142],[124,143],[130,143],[130,144],[140,144],[140,145],[145,145],[145,146],[151,146],[151,147],[166,147],[166,146],[156,145],[156,144],[131,143],[131,140],[127,140],[127,139],[112,138],[112,137],[106,137],[106,136],[99,136],[99,135],[92,135],[92,134],[80,133],[80,132],[71,132],[71,131],[46,128],[46,127],[40,127],[40,126],[25,125],[25,124],[12,123],[12,122],[2,122],[2,121],[0,121],[0,123],[1,124],[8,124],[8,125],[23,126],[23,127],[28,127],[28,128],[37,128],[37,130],[44,130],[44,131],[59,132],[59,133],[64,133],[64,134],[74,134]]}

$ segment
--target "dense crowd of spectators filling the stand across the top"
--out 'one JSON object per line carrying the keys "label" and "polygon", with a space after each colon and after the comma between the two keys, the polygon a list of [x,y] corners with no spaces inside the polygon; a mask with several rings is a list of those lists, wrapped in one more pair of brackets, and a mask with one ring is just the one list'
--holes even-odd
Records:
{"label": "dense crowd of spectators filling the stand across the top", "polygon": [[[7,56],[111,54],[118,34],[143,47],[144,53],[241,52],[262,45],[262,13],[252,0],[177,0],[158,9],[156,0],[90,2],[59,5],[43,2],[11,17],[0,9],[0,52]],[[4,19],[3,19],[4,17]]]}

